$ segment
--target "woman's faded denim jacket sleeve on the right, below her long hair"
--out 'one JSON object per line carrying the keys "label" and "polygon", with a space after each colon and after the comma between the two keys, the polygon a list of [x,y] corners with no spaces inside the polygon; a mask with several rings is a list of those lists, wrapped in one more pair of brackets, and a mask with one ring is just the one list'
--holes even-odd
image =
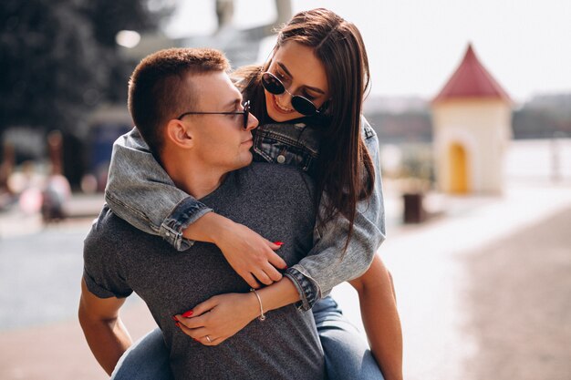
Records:
{"label": "woman's faded denim jacket sleeve on the right, below her long hair", "polygon": [[[361,118],[363,139],[375,166],[375,190],[368,200],[358,202],[353,233],[344,252],[349,223],[338,216],[322,228],[314,230],[314,247],[307,256],[288,268],[285,275],[294,282],[301,297],[298,304],[310,309],[334,286],[358,278],[369,269],[375,252],[385,240],[385,209],[379,163],[379,139],[365,118]],[[319,211],[323,211],[321,200]]]}

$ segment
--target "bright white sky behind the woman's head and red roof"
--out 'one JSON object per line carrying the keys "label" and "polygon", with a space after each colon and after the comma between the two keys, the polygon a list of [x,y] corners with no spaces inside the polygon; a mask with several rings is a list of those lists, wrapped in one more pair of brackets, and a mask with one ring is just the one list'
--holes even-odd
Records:
{"label": "bright white sky behind the woman's head and red roof", "polygon": [[[169,36],[214,31],[213,0],[179,3],[165,27]],[[320,6],[361,31],[373,95],[433,98],[469,43],[516,102],[571,93],[569,0],[292,0],[294,13]],[[274,18],[272,0],[234,0],[238,28]],[[266,45],[270,49],[273,44]]]}

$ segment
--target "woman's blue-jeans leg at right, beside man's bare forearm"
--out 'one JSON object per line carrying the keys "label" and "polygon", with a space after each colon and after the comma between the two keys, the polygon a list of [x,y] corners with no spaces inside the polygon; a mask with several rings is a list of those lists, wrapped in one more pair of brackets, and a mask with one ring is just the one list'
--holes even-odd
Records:
{"label": "woman's blue-jeans leg at right, beside man's bare forearm", "polygon": [[327,296],[318,301],[312,311],[325,352],[329,380],[383,380],[369,344],[343,316],[333,298]]}

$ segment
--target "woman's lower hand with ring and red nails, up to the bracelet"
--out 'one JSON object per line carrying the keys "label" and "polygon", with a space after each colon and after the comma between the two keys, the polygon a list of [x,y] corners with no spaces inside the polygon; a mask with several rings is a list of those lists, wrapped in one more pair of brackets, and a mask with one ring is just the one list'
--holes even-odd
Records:
{"label": "woman's lower hand with ring and red nails, up to the bracelet", "polygon": [[238,333],[260,313],[253,293],[214,295],[186,313],[174,315],[184,334],[204,345],[218,345]]}

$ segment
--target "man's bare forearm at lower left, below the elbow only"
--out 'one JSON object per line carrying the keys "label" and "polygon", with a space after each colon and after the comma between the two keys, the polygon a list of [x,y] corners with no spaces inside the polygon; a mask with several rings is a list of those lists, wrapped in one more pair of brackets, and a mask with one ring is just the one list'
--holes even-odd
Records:
{"label": "man's bare forearm at lower left, below the elbow only", "polygon": [[108,375],[111,375],[121,355],[130,347],[132,340],[120,318],[94,320],[79,312],[79,323],[88,341],[91,352]]}

